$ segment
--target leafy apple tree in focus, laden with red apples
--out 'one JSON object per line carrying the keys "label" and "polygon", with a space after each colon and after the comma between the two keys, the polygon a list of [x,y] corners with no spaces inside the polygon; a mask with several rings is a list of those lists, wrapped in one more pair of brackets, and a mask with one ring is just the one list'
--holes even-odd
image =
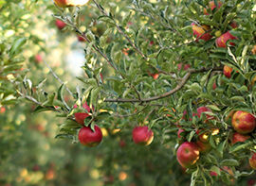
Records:
{"label": "leafy apple tree in focus, laden with red apples", "polygon": [[[106,184],[120,184],[125,172],[131,185],[255,178],[254,1],[54,2],[56,25],[85,43],[84,75],[63,83],[50,68],[58,90],[33,90],[24,77],[33,86],[19,84],[17,93],[34,112],[63,118],[57,139],[101,151]],[[177,166],[190,180],[178,178]]]}

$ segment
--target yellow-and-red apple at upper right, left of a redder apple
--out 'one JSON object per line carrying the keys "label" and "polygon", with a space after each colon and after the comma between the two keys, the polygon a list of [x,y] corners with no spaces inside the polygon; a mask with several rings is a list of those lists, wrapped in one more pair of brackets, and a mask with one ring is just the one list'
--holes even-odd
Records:
{"label": "yellow-and-red apple at upper right, left of a redder apple", "polygon": [[198,40],[204,40],[209,41],[212,37],[210,33],[206,33],[210,30],[209,25],[195,25],[192,23],[192,35],[196,36],[196,41]]}

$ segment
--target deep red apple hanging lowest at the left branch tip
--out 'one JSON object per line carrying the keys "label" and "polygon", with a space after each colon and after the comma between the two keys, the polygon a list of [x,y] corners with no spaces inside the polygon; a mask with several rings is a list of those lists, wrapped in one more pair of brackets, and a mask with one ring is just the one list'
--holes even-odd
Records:
{"label": "deep red apple hanging lowest at the left branch tip", "polygon": [[89,147],[100,144],[102,140],[101,128],[95,125],[94,130],[95,131],[93,131],[90,127],[82,127],[79,130],[80,143]]}

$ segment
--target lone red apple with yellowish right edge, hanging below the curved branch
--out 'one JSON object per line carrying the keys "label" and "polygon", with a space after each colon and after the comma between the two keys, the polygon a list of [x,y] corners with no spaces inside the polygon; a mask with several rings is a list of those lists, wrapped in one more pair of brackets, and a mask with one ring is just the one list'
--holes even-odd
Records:
{"label": "lone red apple with yellowish right edge, hanging below the curved branch", "polygon": [[154,132],[147,126],[135,127],[133,129],[133,140],[135,144],[149,145],[154,139]]}

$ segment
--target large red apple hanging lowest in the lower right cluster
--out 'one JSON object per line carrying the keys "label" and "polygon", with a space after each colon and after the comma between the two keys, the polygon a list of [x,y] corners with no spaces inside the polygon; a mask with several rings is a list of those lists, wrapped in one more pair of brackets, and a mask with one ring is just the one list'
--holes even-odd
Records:
{"label": "large red apple hanging lowest in the lower right cluster", "polygon": [[177,161],[185,168],[191,167],[199,159],[199,147],[192,142],[180,144],[177,149]]}

